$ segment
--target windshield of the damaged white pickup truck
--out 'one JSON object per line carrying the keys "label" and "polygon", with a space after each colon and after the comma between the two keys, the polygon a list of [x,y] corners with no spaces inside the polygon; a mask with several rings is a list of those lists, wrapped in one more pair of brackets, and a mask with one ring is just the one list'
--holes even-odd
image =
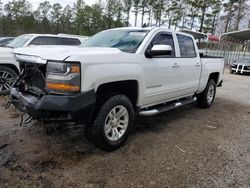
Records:
{"label": "windshield of the damaged white pickup truck", "polygon": [[82,47],[118,48],[123,52],[135,53],[148,32],[148,30],[103,31],[87,40]]}

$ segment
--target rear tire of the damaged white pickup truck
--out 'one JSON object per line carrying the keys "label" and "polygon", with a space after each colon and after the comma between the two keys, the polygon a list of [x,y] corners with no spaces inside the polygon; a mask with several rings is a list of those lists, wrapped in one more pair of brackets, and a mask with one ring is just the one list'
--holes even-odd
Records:
{"label": "rear tire of the damaged white pickup truck", "polygon": [[[213,88],[213,93],[211,93],[211,89]],[[210,97],[208,94],[210,92]],[[205,90],[197,95],[197,105],[200,108],[209,108],[212,106],[216,95],[216,83],[213,79],[209,80]]]}

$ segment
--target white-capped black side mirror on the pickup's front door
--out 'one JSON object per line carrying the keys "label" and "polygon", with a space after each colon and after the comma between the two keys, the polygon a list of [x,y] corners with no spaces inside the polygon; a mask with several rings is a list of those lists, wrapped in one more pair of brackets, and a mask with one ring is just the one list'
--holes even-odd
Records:
{"label": "white-capped black side mirror on the pickup's front door", "polygon": [[152,58],[159,55],[171,55],[173,49],[169,45],[157,44],[152,47],[151,50],[147,50],[146,57]]}

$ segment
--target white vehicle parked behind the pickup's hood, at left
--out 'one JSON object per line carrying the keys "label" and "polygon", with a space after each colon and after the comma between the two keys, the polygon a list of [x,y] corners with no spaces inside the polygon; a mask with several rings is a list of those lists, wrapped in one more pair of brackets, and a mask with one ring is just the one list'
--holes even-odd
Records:
{"label": "white vehicle parked behind the pickup's hood, at left", "polygon": [[15,60],[13,49],[39,45],[79,46],[88,37],[68,34],[24,34],[20,35],[6,47],[0,47],[0,95],[8,94],[11,85],[19,74],[19,63]]}

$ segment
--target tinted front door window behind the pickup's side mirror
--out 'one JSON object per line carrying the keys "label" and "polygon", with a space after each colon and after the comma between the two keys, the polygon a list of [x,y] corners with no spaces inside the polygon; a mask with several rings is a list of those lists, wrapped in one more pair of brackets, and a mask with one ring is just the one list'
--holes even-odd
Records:
{"label": "tinted front door window behind the pickup's side mirror", "polygon": [[172,34],[169,33],[160,33],[155,36],[153,41],[151,42],[150,48],[154,45],[161,44],[161,45],[169,45],[172,47],[172,53],[170,55],[164,55],[161,57],[175,57],[175,48],[174,48],[174,40]]}

